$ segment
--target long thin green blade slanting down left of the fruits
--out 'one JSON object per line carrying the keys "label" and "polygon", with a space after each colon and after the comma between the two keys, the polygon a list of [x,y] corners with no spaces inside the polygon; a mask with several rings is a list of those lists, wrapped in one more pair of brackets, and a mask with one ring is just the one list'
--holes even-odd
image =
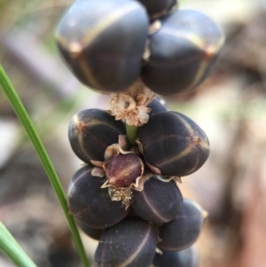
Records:
{"label": "long thin green blade slanting down left of the fruits", "polygon": [[31,122],[27,114],[25,107],[20,101],[20,97],[18,96],[16,90],[13,88],[12,82],[10,82],[8,76],[5,74],[4,68],[2,67],[2,65],[0,65],[0,84],[3,87],[5,95],[9,99],[13,107],[13,110],[17,114],[18,118],[20,119],[21,124],[26,130],[28,137],[30,138],[32,144],[34,145],[35,151],[38,154],[40,161],[43,164],[43,169],[45,170],[47,176],[49,177],[53,190],[56,192],[58,196],[60,205],[63,208],[64,214],[66,216],[66,221],[72,233],[74,243],[77,248],[78,254],[80,255],[82,264],[84,267],[90,267],[90,263],[85,254],[85,250],[82,245],[82,240],[78,232],[77,226],[74,222],[74,218],[73,216],[70,216],[68,213],[66,195],[65,195],[62,185],[59,182],[59,177],[51,163],[51,160],[43,146],[43,143],[40,137],[38,136],[35,130],[33,123]]}

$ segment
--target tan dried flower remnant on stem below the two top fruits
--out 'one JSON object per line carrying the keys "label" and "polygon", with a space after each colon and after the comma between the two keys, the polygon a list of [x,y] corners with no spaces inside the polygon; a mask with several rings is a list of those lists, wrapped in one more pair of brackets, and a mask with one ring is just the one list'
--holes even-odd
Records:
{"label": "tan dried flower remnant on stem below the two top fruits", "polygon": [[150,107],[155,94],[144,86],[141,81],[135,82],[128,90],[119,94],[111,94],[109,114],[115,120],[122,120],[128,125],[142,126],[149,120]]}

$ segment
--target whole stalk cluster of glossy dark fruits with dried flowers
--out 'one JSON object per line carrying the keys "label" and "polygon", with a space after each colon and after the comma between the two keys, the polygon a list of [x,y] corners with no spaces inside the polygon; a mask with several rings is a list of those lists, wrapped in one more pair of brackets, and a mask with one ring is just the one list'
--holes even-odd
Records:
{"label": "whole stalk cluster of glossy dark fruits with dried flowers", "polygon": [[209,143],[155,93],[173,96],[207,78],[219,28],[176,0],[78,0],[56,38],[74,75],[111,94],[109,110],[83,110],[68,129],[86,163],[70,182],[68,208],[99,240],[95,265],[196,267],[205,212],[177,184],[207,161]]}

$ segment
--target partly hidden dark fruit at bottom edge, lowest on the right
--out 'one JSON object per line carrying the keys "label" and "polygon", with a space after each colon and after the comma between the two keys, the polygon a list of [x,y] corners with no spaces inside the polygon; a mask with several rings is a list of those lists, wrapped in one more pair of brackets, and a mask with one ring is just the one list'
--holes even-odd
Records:
{"label": "partly hidden dark fruit at bottom edge, lowest on the right", "polygon": [[156,253],[153,265],[156,267],[197,267],[199,255],[197,247],[187,247],[179,251],[162,250],[162,254]]}

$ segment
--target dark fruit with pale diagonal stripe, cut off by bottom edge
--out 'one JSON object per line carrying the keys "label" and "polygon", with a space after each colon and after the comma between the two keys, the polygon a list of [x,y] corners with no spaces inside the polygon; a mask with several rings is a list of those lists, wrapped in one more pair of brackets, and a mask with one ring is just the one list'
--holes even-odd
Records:
{"label": "dark fruit with pale diagonal stripe, cut off by bottom edge", "polygon": [[96,267],[151,267],[156,248],[153,224],[128,217],[103,231],[94,256]]}

